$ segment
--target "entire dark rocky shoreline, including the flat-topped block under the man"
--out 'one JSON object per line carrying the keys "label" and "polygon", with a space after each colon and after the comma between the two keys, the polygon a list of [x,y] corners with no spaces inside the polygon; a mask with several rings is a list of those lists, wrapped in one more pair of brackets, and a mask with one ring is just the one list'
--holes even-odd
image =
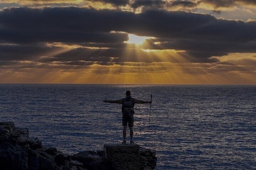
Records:
{"label": "entire dark rocky shoreline, including the flat-topped block under the man", "polygon": [[0,122],[0,169],[2,170],[108,170],[155,169],[156,151],[138,144],[105,144],[102,151],[68,155],[43,146],[29,137],[29,129]]}

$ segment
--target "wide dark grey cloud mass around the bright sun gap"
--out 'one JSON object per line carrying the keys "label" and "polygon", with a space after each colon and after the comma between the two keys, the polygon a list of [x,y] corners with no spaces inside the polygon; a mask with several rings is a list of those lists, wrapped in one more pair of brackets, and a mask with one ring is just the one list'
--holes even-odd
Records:
{"label": "wide dark grey cloud mass around the bright sun gap", "polygon": [[[127,33],[133,33],[156,38],[144,44],[145,49],[185,50],[189,54],[188,61],[214,63],[217,60],[212,56],[256,52],[255,29],[256,22],[229,21],[211,15],[164,10],[135,14],[74,7],[5,9],[0,12],[0,60],[39,58],[44,62],[84,64],[84,61],[108,63],[115,57],[115,62],[158,61],[157,57],[154,60],[138,58],[148,54],[124,44],[128,39]],[[157,46],[155,41],[163,43]],[[81,47],[54,53],[63,50],[60,46],[47,46],[47,43],[54,42]],[[49,58],[42,59],[41,56]]]}

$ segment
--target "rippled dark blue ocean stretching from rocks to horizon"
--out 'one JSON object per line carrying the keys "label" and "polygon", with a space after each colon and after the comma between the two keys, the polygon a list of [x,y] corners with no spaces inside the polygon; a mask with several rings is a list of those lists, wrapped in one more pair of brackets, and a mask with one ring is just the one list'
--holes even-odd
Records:
{"label": "rippled dark blue ocean stretching from rocks to horizon", "polygon": [[0,121],[67,154],[102,150],[123,141],[121,104],[102,100],[126,90],[152,95],[135,104],[133,131],[157,151],[156,169],[256,169],[253,85],[0,84]]}

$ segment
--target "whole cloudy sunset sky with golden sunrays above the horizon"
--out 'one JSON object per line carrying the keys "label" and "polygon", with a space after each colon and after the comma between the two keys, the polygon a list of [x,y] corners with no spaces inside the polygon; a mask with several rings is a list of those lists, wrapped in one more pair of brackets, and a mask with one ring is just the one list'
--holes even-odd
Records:
{"label": "whole cloudy sunset sky with golden sunrays above the horizon", "polygon": [[256,1],[0,0],[0,83],[256,84]]}

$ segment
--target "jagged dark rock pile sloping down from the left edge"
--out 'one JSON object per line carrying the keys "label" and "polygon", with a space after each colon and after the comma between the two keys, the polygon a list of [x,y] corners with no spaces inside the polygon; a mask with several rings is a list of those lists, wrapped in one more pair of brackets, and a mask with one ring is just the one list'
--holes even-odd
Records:
{"label": "jagged dark rock pile sloping down from the left edge", "polygon": [[[62,155],[61,161],[59,155]],[[38,138],[29,138],[27,128],[15,127],[12,122],[0,122],[0,169],[76,168],[69,161],[70,156],[58,152],[56,148],[43,146]]]}

